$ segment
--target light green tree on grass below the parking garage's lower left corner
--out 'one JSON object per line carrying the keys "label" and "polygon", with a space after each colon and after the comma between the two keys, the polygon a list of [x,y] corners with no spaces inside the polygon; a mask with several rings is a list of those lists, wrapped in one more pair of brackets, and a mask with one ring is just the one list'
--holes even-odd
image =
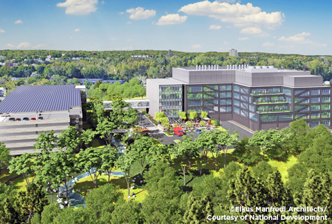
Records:
{"label": "light green tree on grass below the parking garage's lower left corner", "polygon": [[[16,172],[17,175],[22,174],[24,177],[24,180],[26,181],[27,185],[30,185],[31,182],[35,180],[35,175],[33,175],[33,172],[35,171],[35,167],[33,165],[33,156],[34,154],[30,153],[24,153],[21,156],[17,156],[12,158],[12,160],[9,162],[9,172],[10,174],[12,172]],[[36,155],[37,156],[37,155]],[[30,179],[32,178],[32,181],[30,182]]]}

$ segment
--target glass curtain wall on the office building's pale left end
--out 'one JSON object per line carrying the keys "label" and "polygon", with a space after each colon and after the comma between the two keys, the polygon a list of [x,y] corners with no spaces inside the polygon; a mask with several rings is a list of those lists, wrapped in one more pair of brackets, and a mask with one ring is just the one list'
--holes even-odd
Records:
{"label": "glass curtain wall on the office building's pale left end", "polygon": [[167,117],[178,117],[183,107],[182,85],[159,85],[159,112]]}

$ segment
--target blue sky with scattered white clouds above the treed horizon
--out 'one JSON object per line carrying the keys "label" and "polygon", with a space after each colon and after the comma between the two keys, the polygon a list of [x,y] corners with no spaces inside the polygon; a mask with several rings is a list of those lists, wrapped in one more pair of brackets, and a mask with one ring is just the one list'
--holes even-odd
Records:
{"label": "blue sky with scattered white clouds above the treed horizon", "polygon": [[331,54],[331,1],[0,0],[0,50]]}

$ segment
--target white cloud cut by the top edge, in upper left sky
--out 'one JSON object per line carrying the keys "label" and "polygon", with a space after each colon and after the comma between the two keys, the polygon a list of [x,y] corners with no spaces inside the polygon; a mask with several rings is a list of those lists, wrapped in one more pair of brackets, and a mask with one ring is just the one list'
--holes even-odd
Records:
{"label": "white cloud cut by the top edge, in upper left sky", "polygon": [[57,7],[66,8],[66,14],[86,15],[95,12],[95,5],[98,0],[66,0],[63,3],[57,3]]}

